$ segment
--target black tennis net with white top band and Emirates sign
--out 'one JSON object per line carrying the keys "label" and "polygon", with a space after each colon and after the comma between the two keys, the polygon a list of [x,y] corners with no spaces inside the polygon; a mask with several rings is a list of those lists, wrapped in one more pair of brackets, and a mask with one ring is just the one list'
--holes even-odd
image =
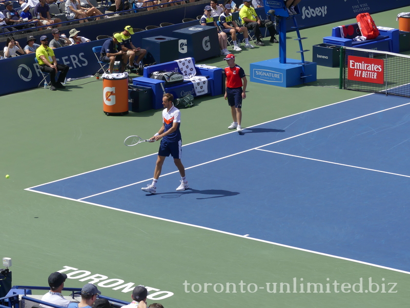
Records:
{"label": "black tennis net with white top band and Emirates sign", "polygon": [[410,56],[343,47],[339,88],[410,97]]}

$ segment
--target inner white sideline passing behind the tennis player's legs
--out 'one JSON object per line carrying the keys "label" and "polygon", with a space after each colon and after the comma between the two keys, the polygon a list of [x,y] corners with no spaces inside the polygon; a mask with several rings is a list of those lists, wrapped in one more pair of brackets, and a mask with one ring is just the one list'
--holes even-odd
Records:
{"label": "inner white sideline passing behind the tennis player's legs", "polygon": [[[185,168],[185,169],[188,170],[188,169],[192,169],[192,168],[199,167],[199,166],[202,166],[202,165],[210,164],[210,163],[213,163],[213,162],[222,160],[222,159],[226,159],[226,158],[229,158],[229,157],[232,157],[232,156],[236,156],[236,155],[239,155],[239,154],[242,154],[242,153],[245,153],[245,152],[249,152],[249,151],[252,151],[252,150],[256,150],[256,149],[259,149],[259,148],[261,148],[261,147],[265,147],[265,146],[272,145],[272,144],[275,144],[275,143],[279,143],[279,142],[282,142],[282,141],[285,141],[285,140],[289,140],[289,139],[293,139],[293,138],[296,138],[296,137],[300,137],[300,136],[303,136],[303,135],[308,134],[308,133],[311,133],[311,132],[315,132],[315,131],[319,131],[319,130],[322,130],[322,129],[325,129],[325,128],[329,128],[329,127],[332,127],[332,126],[336,126],[336,125],[339,125],[339,124],[351,122],[351,121],[354,121],[354,120],[357,120],[357,119],[361,119],[361,118],[364,118],[364,117],[368,117],[369,115],[373,115],[373,114],[377,114],[377,113],[384,112],[384,111],[387,111],[387,110],[391,110],[391,109],[403,107],[403,106],[406,106],[406,105],[409,105],[409,104],[410,104],[410,103],[405,103],[405,104],[402,104],[402,105],[399,105],[399,106],[395,106],[395,107],[391,107],[391,108],[387,108],[387,109],[375,111],[375,112],[368,113],[368,114],[365,114],[365,115],[360,115],[360,117],[356,117],[356,118],[353,118],[353,119],[350,119],[350,120],[345,120],[345,121],[338,122],[338,123],[335,123],[335,124],[327,125],[327,126],[324,126],[324,127],[321,127],[321,128],[317,128],[317,129],[310,130],[310,131],[306,131],[306,132],[297,134],[297,135],[295,135],[295,136],[291,136],[291,137],[288,137],[288,138],[284,138],[284,139],[281,139],[281,140],[277,140],[277,141],[274,141],[274,142],[270,142],[270,143],[267,143],[267,144],[264,144],[264,145],[260,145],[260,146],[257,146],[257,147],[251,148],[251,149],[247,149],[247,150],[244,150],[244,151],[240,151],[240,152],[237,152],[237,153],[228,155],[228,156],[220,157],[220,158],[217,158],[217,159],[208,161],[208,162],[204,162],[204,163],[200,163],[200,164],[197,164],[197,165],[194,165],[194,166],[191,166],[191,167],[187,167],[187,168]],[[176,170],[176,171],[173,171],[173,172],[169,172],[168,174],[161,175],[160,177],[169,176],[169,175],[172,175],[172,174],[174,174],[174,173],[176,173],[176,172],[179,172],[179,171]],[[110,190],[101,191],[101,192],[98,192],[98,194],[91,195],[91,196],[87,196],[87,197],[83,197],[83,198],[80,198],[80,199],[78,199],[78,200],[84,200],[84,199],[88,199],[88,198],[91,198],[91,197],[94,197],[94,196],[103,195],[103,194],[106,194],[107,192],[111,192],[111,191],[118,190],[118,189],[121,189],[121,188],[129,187],[129,186],[136,185],[136,184],[139,184],[139,183],[141,183],[141,182],[145,182],[145,181],[149,181],[149,180],[152,180],[152,178],[146,179],[146,180],[143,180],[143,181],[138,181],[138,182],[135,182],[135,183],[131,183],[131,184],[128,184],[128,185],[125,185],[125,186],[120,186],[120,187],[113,188],[113,189],[110,189]],[[30,188],[26,188],[26,189],[27,189],[27,190],[30,190]],[[33,190],[33,191],[35,191],[35,190]]]}

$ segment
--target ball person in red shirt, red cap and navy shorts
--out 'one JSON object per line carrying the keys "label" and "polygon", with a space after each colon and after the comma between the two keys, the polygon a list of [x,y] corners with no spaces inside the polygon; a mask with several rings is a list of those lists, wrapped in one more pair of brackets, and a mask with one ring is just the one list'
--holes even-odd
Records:
{"label": "ball person in red shirt, red cap and navy shorts", "polygon": [[[247,98],[245,90],[247,89],[247,77],[243,69],[235,64],[235,55],[228,54],[223,60],[227,61],[228,67],[225,68],[226,90],[224,98],[228,99],[228,105],[231,106],[232,119],[234,122],[228,129],[235,129],[237,132],[242,132],[240,126],[242,120],[242,99]],[[243,88],[242,88],[243,86]]]}

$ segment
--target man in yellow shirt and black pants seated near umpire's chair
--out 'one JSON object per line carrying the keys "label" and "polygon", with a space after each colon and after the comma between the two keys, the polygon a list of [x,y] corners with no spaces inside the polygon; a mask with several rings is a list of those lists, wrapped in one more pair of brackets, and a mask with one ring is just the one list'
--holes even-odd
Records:
{"label": "man in yellow shirt and black pants seated near umpire's chair", "polygon": [[270,20],[260,20],[258,15],[255,12],[255,9],[251,7],[251,0],[243,0],[243,8],[239,11],[239,16],[242,19],[242,23],[248,29],[253,30],[256,36],[256,45],[265,46],[265,43],[262,42],[262,33],[260,32],[260,27],[268,28],[269,33],[271,34],[271,43],[279,43],[276,40],[276,29],[273,23]]}

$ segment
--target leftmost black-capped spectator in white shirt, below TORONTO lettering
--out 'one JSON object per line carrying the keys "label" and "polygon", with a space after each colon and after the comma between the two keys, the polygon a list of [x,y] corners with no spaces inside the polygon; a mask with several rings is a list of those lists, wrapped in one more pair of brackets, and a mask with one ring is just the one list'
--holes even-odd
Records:
{"label": "leftmost black-capped spectator in white shirt, below TORONTO lettering", "polygon": [[[46,35],[43,35],[40,39],[44,39],[44,37],[46,37]],[[40,63],[38,62],[38,64]],[[59,306],[63,306],[63,307],[68,307],[70,301],[68,299],[65,299],[63,295],[61,294],[61,291],[63,291],[63,288],[64,288],[64,282],[66,281],[66,279],[67,279],[67,275],[64,273],[59,273],[59,272],[51,273],[50,276],[48,277],[48,285],[50,286],[50,291],[46,293],[45,295],[43,295],[42,301],[52,303],[55,305],[59,305]],[[50,306],[46,306],[43,304],[40,304],[40,306],[45,307],[45,308],[51,308]]]}

